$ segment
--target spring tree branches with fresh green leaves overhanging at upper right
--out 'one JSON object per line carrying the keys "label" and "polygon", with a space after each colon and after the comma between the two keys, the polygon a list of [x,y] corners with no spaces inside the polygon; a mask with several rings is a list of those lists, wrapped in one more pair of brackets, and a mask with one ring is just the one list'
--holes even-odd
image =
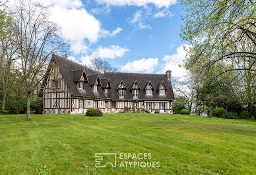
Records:
{"label": "spring tree branches with fresh green leaves overhanging at upper right", "polygon": [[[186,60],[187,68],[203,64],[208,71],[220,61],[256,60],[256,3],[251,0],[181,0],[187,14],[180,36],[193,47]],[[247,47],[244,47],[247,45]],[[249,49],[249,47],[251,49]],[[248,48],[248,49],[247,49]],[[255,67],[233,70],[256,71]]]}

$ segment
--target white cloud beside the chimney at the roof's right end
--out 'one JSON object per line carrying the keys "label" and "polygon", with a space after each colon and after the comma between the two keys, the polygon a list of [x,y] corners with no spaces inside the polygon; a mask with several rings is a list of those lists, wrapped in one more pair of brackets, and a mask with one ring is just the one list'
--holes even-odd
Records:
{"label": "white cloud beside the chimney at the roof's right end", "polygon": [[185,48],[189,48],[191,45],[183,44],[177,47],[176,53],[172,55],[164,56],[163,63],[164,68],[160,70],[158,73],[165,73],[167,70],[172,70],[172,76],[177,79],[183,79],[187,76],[187,71],[185,68],[179,67],[179,64],[183,64],[183,60],[185,59],[186,51]]}

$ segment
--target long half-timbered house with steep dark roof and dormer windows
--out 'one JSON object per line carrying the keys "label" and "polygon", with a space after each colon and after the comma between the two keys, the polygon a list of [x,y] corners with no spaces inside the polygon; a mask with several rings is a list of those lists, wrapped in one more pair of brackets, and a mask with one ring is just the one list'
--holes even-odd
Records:
{"label": "long half-timbered house with steep dark roof and dormer windows", "polygon": [[100,73],[52,55],[40,95],[44,114],[84,114],[87,109],[120,112],[127,108],[172,113],[172,72]]}

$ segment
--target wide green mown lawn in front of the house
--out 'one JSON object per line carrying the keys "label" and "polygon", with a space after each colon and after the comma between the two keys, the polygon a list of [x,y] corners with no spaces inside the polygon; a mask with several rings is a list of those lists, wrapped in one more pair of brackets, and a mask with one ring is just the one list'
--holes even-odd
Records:
{"label": "wide green mown lawn in front of the house", "polygon": [[[0,116],[0,174],[256,174],[256,122],[179,114]],[[117,167],[95,168],[95,153]],[[150,153],[160,168],[119,167]]]}

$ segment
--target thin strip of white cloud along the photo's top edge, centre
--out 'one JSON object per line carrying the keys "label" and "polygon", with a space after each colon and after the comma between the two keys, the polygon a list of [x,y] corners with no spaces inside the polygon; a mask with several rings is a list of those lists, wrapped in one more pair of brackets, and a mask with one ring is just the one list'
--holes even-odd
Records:
{"label": "thin strip of white cloud along the photo's top edge, centre", "polygon": [[134,5],[146,7],[149,3],[154,4],[156,7],[169,7],[177,3],[177,0],[96,0],[99,4],[106,4],[107,6],[124,6]]}

